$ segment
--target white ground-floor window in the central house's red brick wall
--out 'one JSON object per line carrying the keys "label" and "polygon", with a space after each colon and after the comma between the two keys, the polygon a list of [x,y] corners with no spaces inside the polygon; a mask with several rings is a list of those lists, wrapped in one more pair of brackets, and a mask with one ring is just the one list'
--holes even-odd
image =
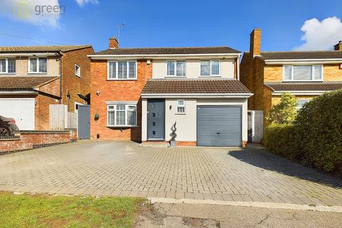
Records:
{"label": "white ground-floor window in the central house's red brick wall", "polygon": [[108,127],[136,127],[137,105],[107,105]]}

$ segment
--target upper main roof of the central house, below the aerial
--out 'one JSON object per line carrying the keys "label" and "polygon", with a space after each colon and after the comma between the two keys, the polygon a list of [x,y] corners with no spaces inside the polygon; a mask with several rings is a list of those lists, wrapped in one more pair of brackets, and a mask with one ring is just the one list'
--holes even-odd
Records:
{"label": "upper main roof of the central house, below the aerial", "polygon": [[95,55],[190,55],[190,54],[240,53],[227,46],[188,48],[109,48]]}

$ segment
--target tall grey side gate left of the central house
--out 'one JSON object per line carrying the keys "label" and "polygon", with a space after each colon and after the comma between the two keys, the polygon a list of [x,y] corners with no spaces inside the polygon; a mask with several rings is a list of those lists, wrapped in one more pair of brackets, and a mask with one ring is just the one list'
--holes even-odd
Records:
{"label": "tall grey side gate left of the central house", "polygon": [[90,138],[90,105],[78,105],[77,135],[79,139]]}

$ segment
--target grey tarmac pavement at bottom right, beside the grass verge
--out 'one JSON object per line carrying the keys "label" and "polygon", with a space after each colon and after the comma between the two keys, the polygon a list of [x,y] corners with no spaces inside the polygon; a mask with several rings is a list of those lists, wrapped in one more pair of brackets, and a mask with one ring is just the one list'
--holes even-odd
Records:
{"label": "grey tarmac pavement at bottom right, beside the grass verge", "polygon": [[341,227],[341,213],[211,204],[145,204],[135,227]]}

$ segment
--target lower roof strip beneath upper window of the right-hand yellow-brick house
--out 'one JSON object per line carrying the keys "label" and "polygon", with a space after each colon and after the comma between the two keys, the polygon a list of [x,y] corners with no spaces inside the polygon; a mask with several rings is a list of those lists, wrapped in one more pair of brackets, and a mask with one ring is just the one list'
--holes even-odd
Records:
{"label": "lower roof strip beneath upper window of the right-hand yellow-brick house", "polygon": [[342,88],[342,81],[312,83],[264,83],[272,91],[330,91]]}

